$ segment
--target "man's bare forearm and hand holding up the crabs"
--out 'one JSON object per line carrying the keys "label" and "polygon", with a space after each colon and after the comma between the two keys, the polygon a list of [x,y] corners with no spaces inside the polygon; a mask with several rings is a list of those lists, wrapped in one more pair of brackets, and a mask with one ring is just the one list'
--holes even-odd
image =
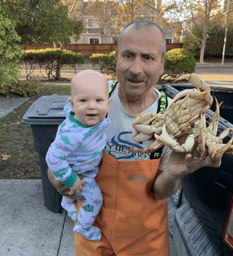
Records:
{"label": "man's bare forearm and hand holding up the crabs", "polygon": [[182,178],[205,166],[219,167],[221,158],[213,160],[207,156],[195,159],[192,154],[171,151],[165,170],[159,169],[153,184],[153,194],[158,200],[170,197],[178,189]]}

